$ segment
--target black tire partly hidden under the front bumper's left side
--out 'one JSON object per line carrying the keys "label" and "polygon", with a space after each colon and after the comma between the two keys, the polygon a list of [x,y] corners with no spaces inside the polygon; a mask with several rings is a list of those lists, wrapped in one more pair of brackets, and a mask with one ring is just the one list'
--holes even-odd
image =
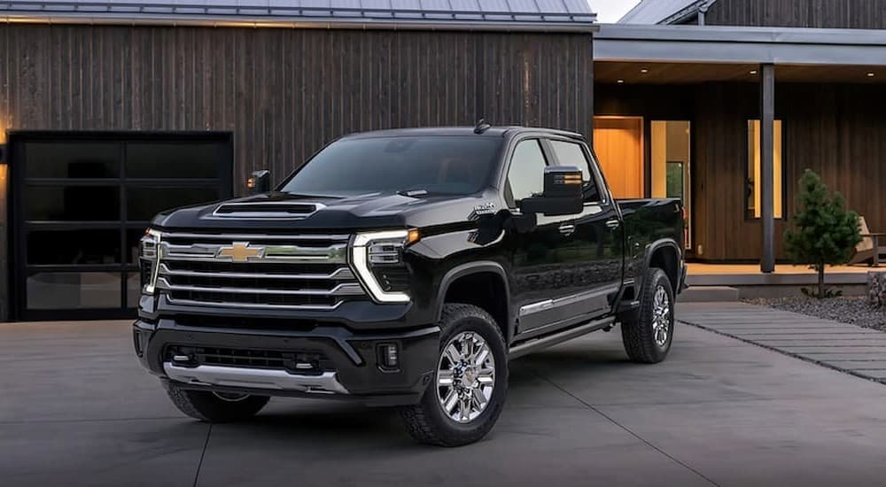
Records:
{"label": "black tire partly hidden under the front bumper's left side", "polygon": [[206,422],[242,421],[253,417],[268,404],[268,396],[243,395],[206,390],[182,389],[167,384],[167,394],[172,403],[191,418]]}

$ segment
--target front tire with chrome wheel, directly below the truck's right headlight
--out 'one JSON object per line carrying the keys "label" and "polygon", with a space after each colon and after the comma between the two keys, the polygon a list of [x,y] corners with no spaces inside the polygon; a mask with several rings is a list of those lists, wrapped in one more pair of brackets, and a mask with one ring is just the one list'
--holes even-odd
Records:
{"label": "front tire with chrome wheel, directly below the truck's right headlight", "polygon": [[[505,340],[493,317],[474,305],[444,305],[439,325],[437,372],[421,402],[401,408],[400,415],[409,434],[420,443],[471,444],[493,428],[504,406],[508,393]],[[464,368],[464,362],[450,357],[471,358],[468,363],[474,365]],[[488,389],[490,384],[492,388]],[[485,405],[481,405],[483,398]],[[444,403],[453,408],[445,411]]]}

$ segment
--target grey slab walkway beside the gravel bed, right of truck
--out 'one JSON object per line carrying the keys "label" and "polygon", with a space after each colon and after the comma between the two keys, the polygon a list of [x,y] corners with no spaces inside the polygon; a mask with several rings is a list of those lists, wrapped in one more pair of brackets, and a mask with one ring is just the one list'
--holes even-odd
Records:
{"label": "grey slab walkway beside the gravel bed, right of truck", "polygon": [[743,303],[696,304],[680,321],[886,383],[886,333]]}

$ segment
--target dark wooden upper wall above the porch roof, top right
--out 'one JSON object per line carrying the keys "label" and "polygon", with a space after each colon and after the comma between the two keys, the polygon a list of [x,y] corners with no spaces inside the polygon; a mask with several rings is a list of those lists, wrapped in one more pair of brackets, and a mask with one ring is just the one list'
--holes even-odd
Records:
{"label": "dark wooden upper wall above the porch roof, top right", "polygon": [[722,26],[886,28],[886,0],[718,0],[704,20]]}

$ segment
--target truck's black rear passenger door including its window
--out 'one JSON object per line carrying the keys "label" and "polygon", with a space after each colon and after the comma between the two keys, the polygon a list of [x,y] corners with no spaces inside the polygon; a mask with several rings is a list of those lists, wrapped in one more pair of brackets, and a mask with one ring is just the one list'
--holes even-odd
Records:
{"label": "truck's black rear passenger door including its window", "polygon": [[624,228],[587,146],[565,137],[546,143],[556,165],[579,167],[583,176],[583,210],[571,217],[575,233],[561,249],[568,275],[558,299],[569,304],[572,315],[594,318],[610,312],[621,285]]}

